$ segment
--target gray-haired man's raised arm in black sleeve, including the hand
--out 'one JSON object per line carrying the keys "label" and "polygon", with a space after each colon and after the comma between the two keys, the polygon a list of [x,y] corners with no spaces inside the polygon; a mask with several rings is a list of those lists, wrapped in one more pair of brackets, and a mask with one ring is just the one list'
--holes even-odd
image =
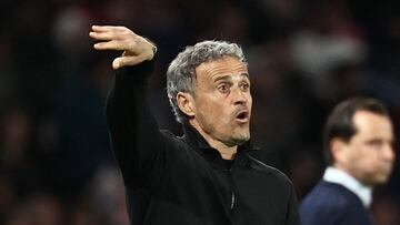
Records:
{"label": "gray-haired man's raised arm in black sleeve, including the hand", "polygon": [[117,75],[107,101],[107,121],[126,185],[154,185],[164,162],[164,140],[146,94],[154,45],[124,27],[93,25],[89,35],[99,41],[97,50],[123,51],[112,62]]}

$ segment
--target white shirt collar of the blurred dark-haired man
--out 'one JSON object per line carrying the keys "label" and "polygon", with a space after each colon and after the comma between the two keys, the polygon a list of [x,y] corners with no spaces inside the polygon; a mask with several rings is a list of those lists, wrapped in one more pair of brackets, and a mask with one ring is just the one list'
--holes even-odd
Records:
{"label": "white shirt collar of the blurred dark-haired man", "polygon": [[350,190],[361,200],[364,207],[369,207],[371,205],[372,188],[362,184],[344,171],[329,166],[324,171],[323,181],[337,183]]}

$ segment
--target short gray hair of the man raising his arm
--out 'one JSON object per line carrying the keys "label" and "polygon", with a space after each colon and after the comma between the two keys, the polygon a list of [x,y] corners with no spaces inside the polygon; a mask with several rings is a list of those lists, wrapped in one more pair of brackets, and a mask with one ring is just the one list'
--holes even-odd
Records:
{"label": "short gray hair of the man raising his arm", "polygon": [[172,60],[167,71],[167,93],[178,122],[187,121],[187,115],[178,108],[178,92],[194,94],[196,68],[224,57],[233,57],[247,63],[242,49],[227,41],[199,42],[187,47]]}

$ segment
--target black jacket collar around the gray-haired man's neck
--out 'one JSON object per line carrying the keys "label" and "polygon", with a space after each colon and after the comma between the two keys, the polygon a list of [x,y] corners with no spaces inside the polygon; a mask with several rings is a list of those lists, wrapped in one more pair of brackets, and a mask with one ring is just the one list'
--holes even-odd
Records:
{"label": "black jacket collar around the gray-haired man's neck", "polygon": [[[183,124],[183,141],[188,143],[193,150],[196,150],[206,160],[214,163],[223,163],[220,153],[210,146],[206,139],[190,124]],[[250,141],[238,146],[238,153],[234,161],[242,161],[247,153],[260,150],[253,146]]]}

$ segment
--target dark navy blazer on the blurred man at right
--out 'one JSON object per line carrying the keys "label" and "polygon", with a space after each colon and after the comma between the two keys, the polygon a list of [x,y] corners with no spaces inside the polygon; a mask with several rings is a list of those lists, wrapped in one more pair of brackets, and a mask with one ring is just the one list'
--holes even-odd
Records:
{"label": "dark navy blazer on the blurred man at right", "polygon": [[303,225],[370,225],[361,200],[344,186],[320,181],[300,205]]}

